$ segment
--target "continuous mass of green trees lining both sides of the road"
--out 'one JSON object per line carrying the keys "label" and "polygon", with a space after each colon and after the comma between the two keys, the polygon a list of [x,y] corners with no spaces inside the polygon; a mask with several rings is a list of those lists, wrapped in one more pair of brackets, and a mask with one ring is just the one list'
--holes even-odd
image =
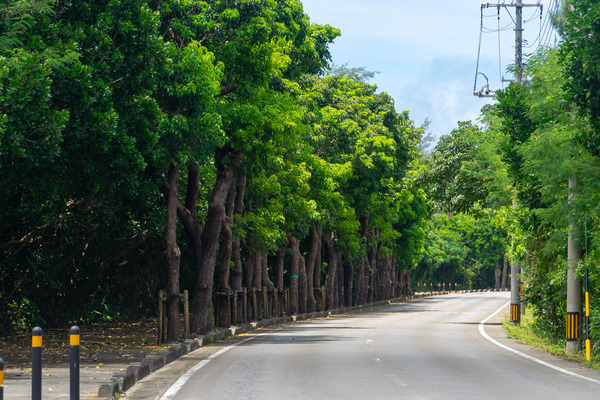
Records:
{"label": "continuous mass of green trees lining both sides of the road", "polygon": [[177,339],[184,289],[205,333],[244,289],[311,312],[506,288],[518,259],[528,326],[560,341],[571,219],[594,337],[600,5],[563,6],[526,82],[431,150],[372,73],[331,65],[339,30],[297,0],[231,4],[0,0],[2,334],[156,316],[166,289]]}

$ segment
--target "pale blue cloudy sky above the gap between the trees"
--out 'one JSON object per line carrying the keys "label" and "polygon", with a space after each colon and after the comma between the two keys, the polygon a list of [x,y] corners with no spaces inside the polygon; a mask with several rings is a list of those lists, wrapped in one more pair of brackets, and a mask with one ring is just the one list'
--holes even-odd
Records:
{"label": "pale blue cloudy sky above the gap between the trees", "polygon": [[[341,30],[342,35],[330,46],[333,63],[378,72],[371,83],[394,98],[398,111],[408,110],[417,126],[429,120],[434,143],[456,128],[458,121],[476,122],[481,108],[493,102],[473,95],[481,1],[301,1],[311,22]],[[514,0],[498,3],[510,5]],[[531,53],[540,42],[554,43],[546,19],[556,0],[523,3],[543,6],[542,20],[537,6],[523,11],[523,52]],[[501,89],[507,85],[501,76],[512,78],[506,68],[515,57],[515,10],[501,8],[499,22],[496,7],[485,8],[483,13],[478,71],[489,78],[490,89]],[[477,90],[484,84],[479,74]]]}

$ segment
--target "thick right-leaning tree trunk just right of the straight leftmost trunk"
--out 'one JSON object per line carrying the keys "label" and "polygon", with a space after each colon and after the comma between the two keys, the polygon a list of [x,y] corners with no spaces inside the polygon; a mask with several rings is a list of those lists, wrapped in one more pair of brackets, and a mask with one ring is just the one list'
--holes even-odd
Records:
{"label": "thick right-leaning tree trunk just right of the straight leftmost trunk", "polygon": [[223,165],[224,159],[229,156],[231,154],[219,152],[215,157],[218,170],[217,180],[210,196],[202,230],[202,260],[192,299],[190,318],[191,329],[198,333],[206,333],[213,328],[212,287],[219,250],[219,237],[225,216],[229,186],[232,184],[236,164],[242,155],[241,153],[235,154],[229,159],[229,165]]}

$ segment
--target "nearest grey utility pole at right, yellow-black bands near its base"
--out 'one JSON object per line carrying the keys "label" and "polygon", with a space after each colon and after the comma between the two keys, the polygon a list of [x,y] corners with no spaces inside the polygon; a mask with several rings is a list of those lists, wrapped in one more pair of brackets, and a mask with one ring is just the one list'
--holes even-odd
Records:
{"label": "nearest grey utility pole at right, yellow-black bands near its base", "polygon": [[569,178],[569,236],[567,239],[567,346],[566,351],[574,354],[579,351],[579,321],[581,314],[581,281],[575,277],[575,270],[581,258],[581,246],[576,238],[575,216],[572,214],[577,178]]}

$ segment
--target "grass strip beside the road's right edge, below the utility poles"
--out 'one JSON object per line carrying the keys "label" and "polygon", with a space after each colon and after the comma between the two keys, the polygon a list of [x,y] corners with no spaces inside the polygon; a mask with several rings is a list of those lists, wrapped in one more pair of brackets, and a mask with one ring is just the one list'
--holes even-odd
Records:
{"label": "grass strip beside the road's right edge, below the utility poles", "polygon": [[504,328],[508,332],[508,338],[519,340],[527,345],[547,351],[550,354],[559,356],[565,360],[578,362],[587,367],[600,370],[600,360],[596,357],[590,361],[585,359],[585,349],[577,354],[567,354],[564,341],[556,341],[543,337],[533,331],[531,324],[533,322],[533,312],[527,309],[525,315],[521,315],[521,324],[511,326],[508,320],[504,323]]}

